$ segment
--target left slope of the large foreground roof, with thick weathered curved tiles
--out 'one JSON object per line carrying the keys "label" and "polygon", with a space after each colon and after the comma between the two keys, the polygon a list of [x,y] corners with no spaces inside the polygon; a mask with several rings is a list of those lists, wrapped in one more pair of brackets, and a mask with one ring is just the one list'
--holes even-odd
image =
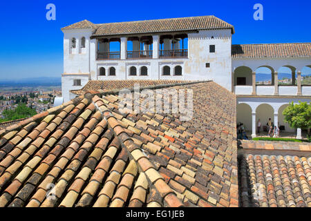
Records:
{"label": "left slope of the large foreground roof, with thick weathered curved tiles", "polygon": [[[111,119],[85,98],[57,112],[1,137],[0,206],[147,205],[153,190]],[[52,183],[55,198],[46,198]],[[159,205],[153,197],[150,203]]]}

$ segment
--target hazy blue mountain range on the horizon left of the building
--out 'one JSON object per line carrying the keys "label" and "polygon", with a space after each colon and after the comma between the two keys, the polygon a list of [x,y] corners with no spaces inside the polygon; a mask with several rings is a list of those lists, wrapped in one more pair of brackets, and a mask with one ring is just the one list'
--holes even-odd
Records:
{"label": "hazy blue mountain range on the horizon left of the building", "polygon": [[61,77],[29,77],[23,79],[0,79],[0,87],[12,86],[61,86]]}

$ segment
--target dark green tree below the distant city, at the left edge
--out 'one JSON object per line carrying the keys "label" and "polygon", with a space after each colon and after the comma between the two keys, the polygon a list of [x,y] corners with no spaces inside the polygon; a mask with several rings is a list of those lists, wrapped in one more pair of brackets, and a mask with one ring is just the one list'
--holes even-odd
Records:
{"label": "dark green tree below the distant city, at the left edge", "polygon": [[15,110],[5,110],[3,111],[2,115],[4,119],[1,119],[1,122],[7,122],[14,119],[21,119],[26,117],[31,117],[37,114],[35,109],[28,108],[26,104],[19,104]]}

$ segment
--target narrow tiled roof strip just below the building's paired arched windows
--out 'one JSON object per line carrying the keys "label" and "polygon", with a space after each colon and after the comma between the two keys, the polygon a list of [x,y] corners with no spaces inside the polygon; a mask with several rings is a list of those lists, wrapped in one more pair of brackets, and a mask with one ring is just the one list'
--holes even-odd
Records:
{"label": "narrow tiled roof strip just below the building's paired arched windows", "polygon": [[191,81],[184,80],[90,80],[80,90],[70,90],[75,95],[84,95],[84,93],[102,93],[104,91],[120,90],[122,88],[133,88],[139,84],[140,88],[157,85],[185,84]]}

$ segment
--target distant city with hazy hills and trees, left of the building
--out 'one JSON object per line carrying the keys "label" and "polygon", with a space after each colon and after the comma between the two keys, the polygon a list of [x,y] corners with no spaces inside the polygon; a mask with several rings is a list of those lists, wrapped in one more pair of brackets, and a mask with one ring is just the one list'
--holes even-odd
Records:
{"label": "distant city with hazy hills and trees, left of the building", "polygon": [[62,97],[60,77],[0,80],[0,123],[46,111],[55,97]]}

